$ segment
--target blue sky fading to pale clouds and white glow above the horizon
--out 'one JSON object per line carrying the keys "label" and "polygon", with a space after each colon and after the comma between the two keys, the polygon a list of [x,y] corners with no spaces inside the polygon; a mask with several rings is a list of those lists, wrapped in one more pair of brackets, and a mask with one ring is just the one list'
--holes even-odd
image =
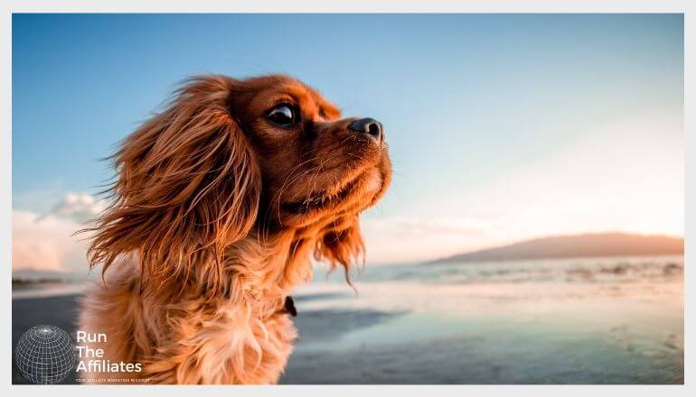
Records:
{"label": "blue sky fading to pale clouds and white glow above the horizon", "polygon": [[13,268],[84,269],[100,162],[183,78],[287,73],[386,127],[367,263],[682,235],[681,14],[14,14]]}

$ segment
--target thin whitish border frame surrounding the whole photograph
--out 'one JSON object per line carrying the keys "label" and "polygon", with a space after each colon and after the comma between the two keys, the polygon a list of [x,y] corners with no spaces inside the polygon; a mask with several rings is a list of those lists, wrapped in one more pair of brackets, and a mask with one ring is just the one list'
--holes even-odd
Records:
{"label": "thin whitish border frame surrounding the whole photograph", "polygon": [[[565,0],[565,1],[514,1],[514,0],[476,0],[466,1],[456,4],[453,0],[372,0],[372,1],[353,1],[351,3],[336,3],[317,0],[273,0],[263,4],[250,0],[235,1],[234,3],[197,0],[182,1],[170,0],[167,2],[145,3],[137,0],[107,0],[107,1],[61,1],[57,4],[51,0],[9,0],[0,5],[2,9],[2,21],[0,27],[0,93],[3,95],[3,102],[0,105],[0,272],[2,272],[2,284],[0,291],[5,297],[5,302],[11,301],[11,235],[12,235],[12,14],[13,13],[683,13],[684,14],[684,134],[685,134],[685,165],[686,174],[689,170],[696,169],[696,136],[691,129],[691,115],[687,113],[692,104],[694,92],[694,79],[689,72],[692,69],[694,48],[694,31],[691,29],[696,23],[696,17],[691,12],[694,6],[687,1],[621,1],[621,0]],[[691,153],[691,155],[689,155]],[[685,200],[696,198],[696,180],[686,178]],[[686,209],[686,208],[685,208]],[[385,392],[399,394],[420,395],[423,392],[437,392],[447,395],[460,396],[464,392],[475,392],[476,395],[498,395],[502,393],[522,393],[534,396],[554,396],[559,393],[563,395],[583,395],[588,393],[601,392],[609,393],[631,393],[654,395],[655,393],[670,393],[687,395],[693,394],[693,387],[690,381],[694,377],[694,368],[691,365],[691,353],[693,349],[688,348],[691,342],[694,315],[687,310],[693,300],[693,291],[696,289],[695,279],[690,277],[690,266],[692,256],[696,253],[696,241],[689,239],[687,235],[691,232],[694,225],[694,212],[685,210],[684,218],[684,237],[685,237],[685,257],[684,257],[684,380],[685,385],[677,386],[208,386],[206,393],[227,394],[259,394],[259,393],[299,393],[325,397],[326,392],[332,394],[353,395],[362,392]],[[687,264],[688,263],[688,264]],[[5,325],[0,327],[0,356],[4,356],[3,368],[0,369],[5,378],[5,388],[13,395],[24,395],[30,393],[50,393],[60,389],[61,392],[70,392],[75,395],[91,395],[99,392],[108,395],[118,395],[124,392],[123,387],[147,387],[148,392],[173,393],[185,395],[193,392],[186,386],[48,386],[52,390],[47,390],[46,386],[32,385],[12,385],[12,363],[8,357],[13,356],[10,341],[12,333],[11,307],[0,307],[4,314]],[[329,369],[330,370],[330,369]],[[691,390],[691,392],[689,392]],[[145,390],[139,390],[144,392]]]}

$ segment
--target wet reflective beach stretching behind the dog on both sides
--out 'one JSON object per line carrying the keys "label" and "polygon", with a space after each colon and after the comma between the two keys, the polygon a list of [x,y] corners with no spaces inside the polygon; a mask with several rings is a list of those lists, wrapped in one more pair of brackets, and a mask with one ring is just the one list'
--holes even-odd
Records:
{"label": "wet reflective beach stretching behind the dog on both sides", "polygon": [[[367,267],[298,289],[280,383],[683,383],[683,257]],[[356,292],[357,291],[357,292]],[[79,295],[13,300],[74,333]],[[74,377],[64,383],[74,383]],[[26,383],[14,367],[13,383]]]}

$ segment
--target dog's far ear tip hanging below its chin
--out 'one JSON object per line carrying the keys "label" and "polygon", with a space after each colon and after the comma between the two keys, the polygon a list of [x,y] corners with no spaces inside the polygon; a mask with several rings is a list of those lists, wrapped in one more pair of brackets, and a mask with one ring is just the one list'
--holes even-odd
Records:
{"label": "dog's far ear tip hanging below its chin", "polygon": [[358,218],[354,217],[319,238],[315,246],[315,259],[331,263],[332,268],[343,266],[347,278],[349,267],[364,258],[364,251],[360,224]]}

